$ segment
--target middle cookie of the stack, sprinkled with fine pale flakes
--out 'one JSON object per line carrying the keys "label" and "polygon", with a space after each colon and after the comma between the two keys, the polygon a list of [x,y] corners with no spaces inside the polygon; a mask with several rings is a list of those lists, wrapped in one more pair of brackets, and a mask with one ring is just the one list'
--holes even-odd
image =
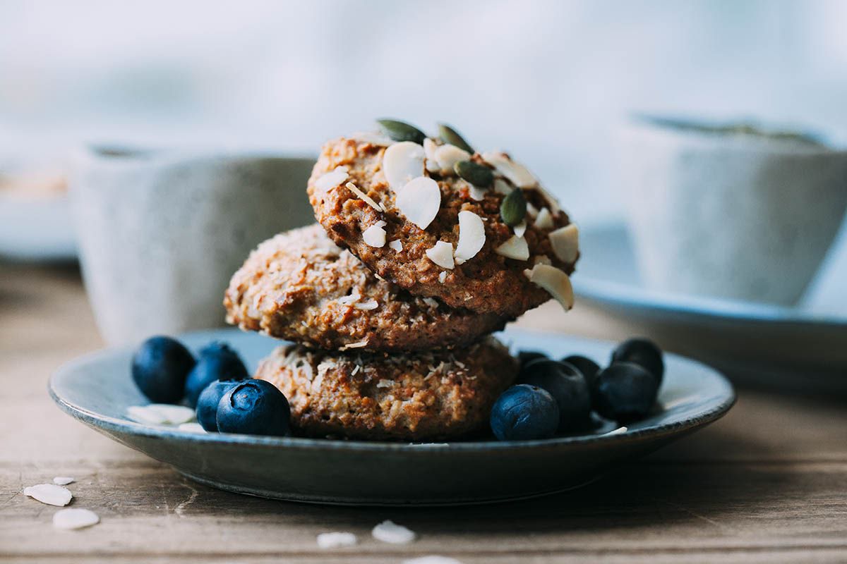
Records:
{"label": "middle cookie of the stack, sprinkled with fine pale flakes", "polygon": [[224,306],[241,329],[342,350],[462,347],[506,322],[379,280],[317,224],[260,244],[233,275]]}

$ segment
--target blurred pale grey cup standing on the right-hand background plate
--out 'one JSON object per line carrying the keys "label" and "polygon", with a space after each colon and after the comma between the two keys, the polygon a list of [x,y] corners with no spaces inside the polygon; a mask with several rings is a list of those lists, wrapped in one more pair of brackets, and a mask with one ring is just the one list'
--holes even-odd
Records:
{"label": "blurred pale grey cup standing on the right-hand background plate", "polygon": [[620,188],[652,290],[793,305],[847,208],[847,151],[641,120]]}

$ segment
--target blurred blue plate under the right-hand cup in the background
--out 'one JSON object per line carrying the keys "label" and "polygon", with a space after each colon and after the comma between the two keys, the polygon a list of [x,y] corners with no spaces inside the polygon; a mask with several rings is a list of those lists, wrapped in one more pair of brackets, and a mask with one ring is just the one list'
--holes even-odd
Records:
{"label": "blurred blue plate under the right-hand cup in the background", "polygon": [[811,309],[653,292],[623,223],[587,226],[573,276],[577,304],[733,378],[792,392],[847,392],[847,317]]}

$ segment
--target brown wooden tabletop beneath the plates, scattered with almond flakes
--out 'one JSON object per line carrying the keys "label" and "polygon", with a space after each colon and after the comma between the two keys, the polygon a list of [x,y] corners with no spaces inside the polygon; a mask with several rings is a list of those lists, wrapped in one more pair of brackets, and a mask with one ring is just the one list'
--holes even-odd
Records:
{"label": "brown wooden tabletop beneath the plates, scattered with almond flakes", "polygon": [[[579,333],[638,329],[603,322],[590,310],[567,318]],[[445,509],[318,507],[193,484],[61,413],[47,397],[48,375],[101,346],[75,267],[0,262],[0,561],[847,561],[843,398],[739,390],[717,424],[559,496]],[[74,503],[100,524],[59,531],[55,508],[21,493],[57,475],[75,477]],[[370,528],[384,519],[420,538],[375,541]],[[315,536],[334,530],[361,542],[319,550]]]}

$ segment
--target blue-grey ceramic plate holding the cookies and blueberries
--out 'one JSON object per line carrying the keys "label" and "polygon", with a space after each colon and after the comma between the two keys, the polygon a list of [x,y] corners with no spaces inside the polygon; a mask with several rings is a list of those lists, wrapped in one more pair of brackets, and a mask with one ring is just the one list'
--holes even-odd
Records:
{"label": "blue-grey ceramic plate holding the cookies and blueberries", "polygon": [[[608,358],[612,343],[506,331],[513,348],[555,358]],[[191,333],[197,350],[230,342],[251,369],[280,342],[233,329]],[[219,435],[139,424],[125,417],[146,403],[130,377],[129,348],[77,359],[53,375],[50,394],[66,413],[202,484],[256,496],[357,505],[450,505],[541,496],[583,485],[625,459],[656,450],[732,407],[732,386],[703,364],[668,355],[655,413],[628,430],[545,441],[407,444]]]}

